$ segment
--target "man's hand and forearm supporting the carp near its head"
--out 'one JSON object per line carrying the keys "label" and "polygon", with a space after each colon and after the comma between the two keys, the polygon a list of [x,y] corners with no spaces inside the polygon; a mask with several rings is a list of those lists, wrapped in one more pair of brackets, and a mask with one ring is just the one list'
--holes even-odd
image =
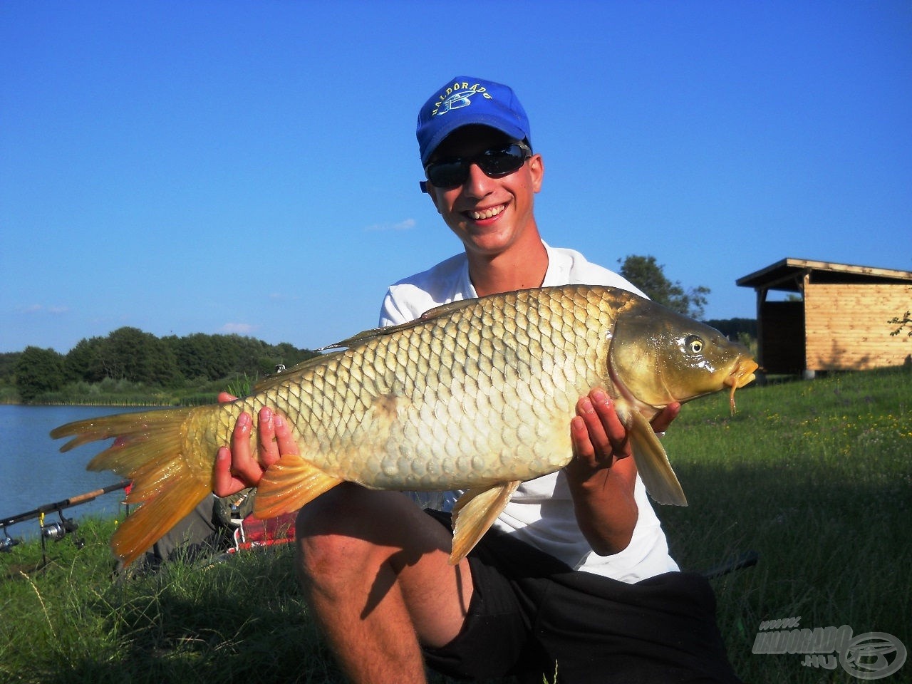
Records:
{"label": "man's hand and forearm supporting the carp near its head", "polygon": [[[680,404],[668,404],[652,420],[657,432],[668,428]],[[637,466],[627,429],[604,389],[593,389],[576,403],[570,421],[573,460],[564,468],[574,498],[576,523],[597,554],[627,547],[637,525],[634,485]]]}

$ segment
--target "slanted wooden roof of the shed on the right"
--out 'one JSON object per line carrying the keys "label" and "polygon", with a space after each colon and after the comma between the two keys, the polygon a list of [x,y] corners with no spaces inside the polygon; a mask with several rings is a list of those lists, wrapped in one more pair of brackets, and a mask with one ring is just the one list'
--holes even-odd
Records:
{"label": "slanted wooden roof of the shed on the right", "polygon": [[810,275],[814,283],[860,284],[860,283],[894,283],[905,285],[912,283],[912,271],[895,271],[889,268],[873,266],[855,266],[852,264],[833,264],[824,261],[786,258],[766,268],[744,275],[735,281],[742,287],[753,287],[755,290],[782,290],[800,292],[804,275]]}

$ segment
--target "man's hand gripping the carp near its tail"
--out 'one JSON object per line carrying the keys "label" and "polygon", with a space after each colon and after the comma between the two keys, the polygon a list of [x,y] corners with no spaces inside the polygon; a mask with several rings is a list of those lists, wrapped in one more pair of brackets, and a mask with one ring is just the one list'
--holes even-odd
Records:
{"label": "man's hand gripping the carp near its tail", "polygon": [[[236,399],[227,392],[219,394],[219,401]],[[260,409],[257,421],[256,458],[250,450],[250,430],[254,419],[242,413],[234,423],[231,448],[220,447],[215,455],[212,475],[212,492],[216,496],[230,496],[246,487],[255,487],[265,470],[285,454],[296,454],[297,443],[285,416],[272,409]]]}

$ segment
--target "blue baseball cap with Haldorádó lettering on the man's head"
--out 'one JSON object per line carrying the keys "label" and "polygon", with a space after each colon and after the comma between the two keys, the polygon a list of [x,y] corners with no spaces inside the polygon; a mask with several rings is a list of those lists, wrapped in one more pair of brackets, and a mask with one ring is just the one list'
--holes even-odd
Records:
{"label": "blue baseball cap with Haldor\u00e1d\u00f3 lettering on the man's head", "polygon": [[454,130],[480,124],[503,131],[530,146],[529,118],[513,92],[483,78],[457,76],[437,91],[418,112],[418,147],[427,164],[437,146]]}

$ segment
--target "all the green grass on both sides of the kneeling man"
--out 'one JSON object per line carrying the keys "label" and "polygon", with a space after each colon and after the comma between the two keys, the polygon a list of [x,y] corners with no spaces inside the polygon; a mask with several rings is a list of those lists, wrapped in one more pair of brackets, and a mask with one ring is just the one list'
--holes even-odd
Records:
{"label": "all the green grass on both sides of the kneeling man", "polygon": [[[745,681],[856,681],[839,667],[802,667],[802,656],[752,654],[763,620],[886,632],[912,648],[910,398],[908,368],[834,375],[742,389],[733,417],[725,397],[701,399],[668,430],[690,505],[657,510],[680,565],[760,554],[712,581]],[[81,550],[49,543],[41,570],[37,544],[0,554],[0,681],[343,681],[307,617],[289,548],[113,581],[112,525],[82,523]]]}

